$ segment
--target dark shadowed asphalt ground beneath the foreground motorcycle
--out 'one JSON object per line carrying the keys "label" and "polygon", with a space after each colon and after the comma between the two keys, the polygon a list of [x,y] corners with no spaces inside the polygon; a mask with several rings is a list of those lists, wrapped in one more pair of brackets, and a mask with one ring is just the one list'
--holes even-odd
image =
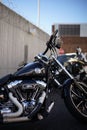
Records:
{"label": "dark shadowed asphalt ground beneath the foreground motorcycle", "polygon": [[40,122],[1,124],[0,130],[87,130],[87,125],[78,122],[68,112],[63,99],[55,95],[57,101],[50,115]]}

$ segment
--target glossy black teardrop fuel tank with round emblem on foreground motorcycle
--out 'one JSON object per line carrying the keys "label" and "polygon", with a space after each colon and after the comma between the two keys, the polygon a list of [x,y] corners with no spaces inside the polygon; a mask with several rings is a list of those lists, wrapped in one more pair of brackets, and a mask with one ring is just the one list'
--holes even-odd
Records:
{"label": "glossy black teardrop fuel tank with round emblem on foreground motorcycle", "polygon": [[15,77],[35,77],[35,76],[44,76],[45,69],[39,62],[31,62],[26,64],[23,68],[19,69],[14,73]]}

